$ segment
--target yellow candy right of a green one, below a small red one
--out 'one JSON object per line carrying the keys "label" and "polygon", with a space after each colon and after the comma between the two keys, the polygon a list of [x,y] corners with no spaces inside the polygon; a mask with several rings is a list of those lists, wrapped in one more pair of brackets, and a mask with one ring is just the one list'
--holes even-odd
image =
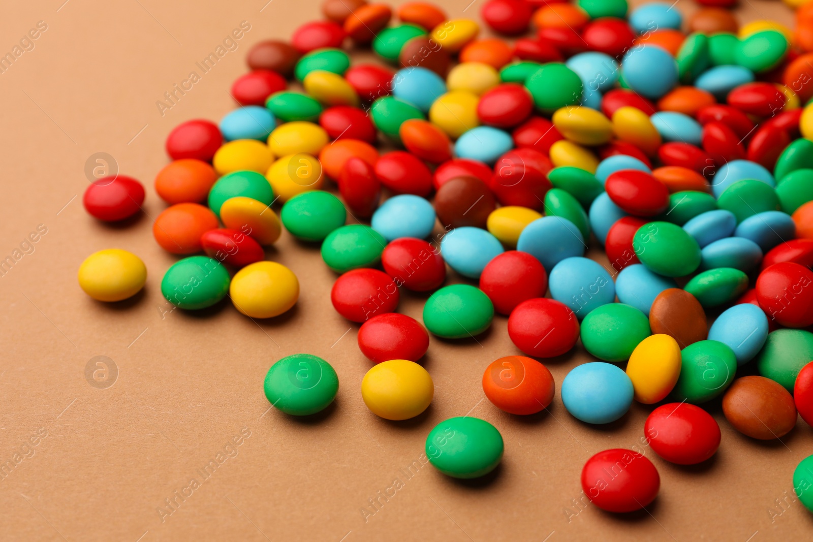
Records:
{"label": "yellow candy right of a green one, below a small red one", "polygon": [[299,281],[288,267],[277,262],[254,262],[232,279],[228,295],[242,314],[251,318],[273,318],[294,306],[299,299]]}

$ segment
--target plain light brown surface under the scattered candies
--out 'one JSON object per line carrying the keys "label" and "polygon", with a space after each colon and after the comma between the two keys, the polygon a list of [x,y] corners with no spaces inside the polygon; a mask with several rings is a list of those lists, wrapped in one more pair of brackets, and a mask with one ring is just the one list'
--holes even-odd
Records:
{"label": "plain light brown surface under the scattered candies", "polygon": [[[165,163],[163,141],[193,118],[220,119],[234,106],[227,89],[245,72],[249,47],[320,18],[318,0],[161,2],[49,0],[4,2],[0,50],[37,21],[48,25],[0,75],[2,198],[0,259],[44,224],[48,231],[0,278],[0,462],[33,446],[0,481],[2,540],[780,540],[809,537],[813,517],[792,491],[793,468],[813,453],[801,420],[783,443],[750,440],[720,414],[720,452],[708,465],[663,462],[641,444],[650,411],[634,405],[611,427],[569,416],[557,392],[550,414],[517,418],[485,400],[480,377],[493,359],[519,353],[497,318],[478,341],[433,338],[424,365],[436,395],[427,413],[405,423],[376,418],[359,383],[370,366],[357,326],[330,306],[335,276],[314,247],[283,234],[269,258],[302,284],[284,317],[252,323],[228,302],[215,310],[165,312],[159,283],[176,260],[151,236],[164,208],[152,188]],[[479,16],[483,0],[465,15]],[[467,1],[441,2],[451,16]],[[193,7],[195,6],[195,7]],[[263,8],[264,6],[264,8]],[[676,8],[695,9],[691,0]],[[741,19],[790,21],[780,2],[744,2]],[[242,21],[250,32],[162,117],[155,102],[184,80]],[[149,216],[126,227],[95,222],[81,206],[93,153],[147,187]],[[119,304],[94,302],[76,283],[80,262],[98,249],[132,250],[149,269],[146,291]],[[599,256],[599,258],[602,258]],[[606,263],[606,260],[604,260]],[[403,293],[400,310],[420,319],[423,297]],[[307,351],[327,358],[341,380],[337,405],[312,419],[268,411],[263,377],[276,359]],[[111,388],[85,380],[90,358],[112,358]],[[547,363],[557,383],[587,361],[580,349]],[[497,475],[461,483],[424,466],[423,453],[444,418],[470,413],[502,431]],[[162,522],[157,507],[200,480],[197,473],[248,427],[250,438]],[[648,512],[580,511],[580,470],[602,449],[636,446],[654,460],[660,496]],[[28,451],[29,455],[32,453]],[[401,479],[404,487],[367,521],[361,509]],[[785,499],[781,512],[776,499]],[[570,521],[566,509],[571,509]],[[573,515],[577,514],[577,515]]]}

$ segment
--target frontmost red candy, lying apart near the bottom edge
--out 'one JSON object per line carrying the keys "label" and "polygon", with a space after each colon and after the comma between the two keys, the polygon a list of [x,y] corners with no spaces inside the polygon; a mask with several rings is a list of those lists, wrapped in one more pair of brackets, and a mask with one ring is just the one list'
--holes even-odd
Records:
{"label": "frontmost red candy, lying apart near the bottom edge", "polygon": [[607,512],[633,512],[658,496],[658,470],[640,452],[604,450],[581,470],[581,488],[593,504]]}

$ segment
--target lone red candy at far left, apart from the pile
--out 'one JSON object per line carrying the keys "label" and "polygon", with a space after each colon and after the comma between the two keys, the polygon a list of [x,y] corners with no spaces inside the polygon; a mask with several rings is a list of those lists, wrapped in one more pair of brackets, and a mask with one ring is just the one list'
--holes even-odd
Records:
{"label": "lone red candy at far left, apart from the pile", "polygon": [[93,218],[105,222],[128,219],[141,210],[144,187],[132,177],[102,177],[85,189],[82,203]]}

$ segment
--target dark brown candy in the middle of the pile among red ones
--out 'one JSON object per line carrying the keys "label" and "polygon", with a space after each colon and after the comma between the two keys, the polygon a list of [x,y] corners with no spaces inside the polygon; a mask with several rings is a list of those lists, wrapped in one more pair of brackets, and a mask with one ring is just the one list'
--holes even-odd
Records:
{"label": "dark brown candy in the middle of the pile among red ones", "polygon": [[472,176],[447,180],[435,194],[435,212],[446,229],[474,226],[485,228],[496,206],[485,183]]}

